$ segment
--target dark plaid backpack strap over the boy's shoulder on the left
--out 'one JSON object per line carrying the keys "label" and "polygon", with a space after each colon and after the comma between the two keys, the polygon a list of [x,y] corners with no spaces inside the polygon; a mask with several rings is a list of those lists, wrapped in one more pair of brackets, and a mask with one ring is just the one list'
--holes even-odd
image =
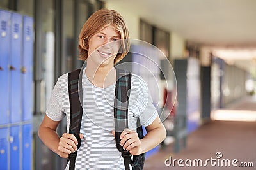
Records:
{"label": "dark plaid backpack strap over the boy's shoulder on the left", "polygon": [[[81,81],[79,81],[81,69],[77,69],[75,71],[72,71],[71,73],[68,73],[68,94],[69,94],[69,103],[70,103],[70,124],[69,124],[69,133],[74,134],[76,136],[78,145],[77,148],[81,145],[81,139],[80,139],[80,127],[81,127],[81,120],[83,115],[83,108],[81,106],[81,103],[79,101],[79,89],[78,85]],[[83,95],[83,93],[81,93]],[[80,96],[80,99],[83,99],[83,96]],[[77,151],[74,153],[71,153],[68,157],[69,163],[69,169],[74,170],[75,169],[75,162],[76,162],[76,156]]]}

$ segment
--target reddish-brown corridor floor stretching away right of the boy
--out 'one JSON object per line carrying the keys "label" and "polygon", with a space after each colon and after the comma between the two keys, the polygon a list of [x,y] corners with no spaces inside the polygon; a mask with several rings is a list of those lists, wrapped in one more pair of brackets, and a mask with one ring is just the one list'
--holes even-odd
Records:
{"label": "reddish-brown corridor floor stretching away right of the boy", "polygon": [[[252,121],[227,121],[230,115],[226,119],[224,115],[224,121],[211,120],[189,134],[186,148],[174,153],[171,143],[148,157],[144,169],[256,169],[255,99],[250,97],[227,108],[231,113],[232,110],[240,110],[241,114],[254,111]],[[225,110],[221,111],[225,114]]]}

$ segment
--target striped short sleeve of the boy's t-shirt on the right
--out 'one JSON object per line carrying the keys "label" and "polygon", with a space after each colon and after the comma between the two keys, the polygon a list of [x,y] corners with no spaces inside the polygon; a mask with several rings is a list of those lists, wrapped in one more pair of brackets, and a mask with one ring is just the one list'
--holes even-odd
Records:
{"label": "striped short sleeve of the boy's t-shirt on the right", "polygon": [[147,127],[156,119],[158,113],[153,104],[152,97],[147,86],[147,83],[137,75],[132,75],[131,111],[135,117],[140,119],[140,124]]}

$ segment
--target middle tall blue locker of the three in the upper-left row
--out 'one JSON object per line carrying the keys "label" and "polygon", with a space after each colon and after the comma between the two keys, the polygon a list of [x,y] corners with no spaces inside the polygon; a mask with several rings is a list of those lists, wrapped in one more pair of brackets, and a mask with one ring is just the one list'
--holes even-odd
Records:
{"label": "middle tall blue locker of the three in the upper-left row", "polygon": [[12,13],[10,46],[10,122],[21,120],[22,15]]}

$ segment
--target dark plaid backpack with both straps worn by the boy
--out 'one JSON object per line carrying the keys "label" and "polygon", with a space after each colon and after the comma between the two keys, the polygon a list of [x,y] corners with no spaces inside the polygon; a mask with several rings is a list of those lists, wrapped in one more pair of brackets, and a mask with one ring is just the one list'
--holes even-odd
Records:
{"label": "dark plaid backpack with both straps worn by the boy", "polygon": [[[76,136],[78,145],[81,145],[81,139],[79,137],[81,120],[83,115],[83,108],[80,101],[83,101],[83,92],[79,96],[78,85],[81,87],[82,74],[81,69],[77,69],[68,73],[68,94],[70,101],[70,125],[69,132]],[[115,101],[114,101],[114,117],[115,117],[115,141],[116,148],[122,153],[124,158],[125,170],[129,170],[129,165],[132,166],[132,170],[141,170],[144,166],[145,153],[141,155],[134,155],[133,160],[129,151],[124,150],[120,145],[120,134],[125,128],[128,128],[128,104],[129,104],[129,90],[131,89],[131,76],[132,74],[124,69],[116,68],[116,87],[115,87]],[[81,100],[79,100],[79,98]],[[140,125],[140,121],[137,122],[137,133],[140,139],[142,139],[143,131]],[[70,161],[69,169],[75,169],[77,151],[71,153],[67,159]]]}

